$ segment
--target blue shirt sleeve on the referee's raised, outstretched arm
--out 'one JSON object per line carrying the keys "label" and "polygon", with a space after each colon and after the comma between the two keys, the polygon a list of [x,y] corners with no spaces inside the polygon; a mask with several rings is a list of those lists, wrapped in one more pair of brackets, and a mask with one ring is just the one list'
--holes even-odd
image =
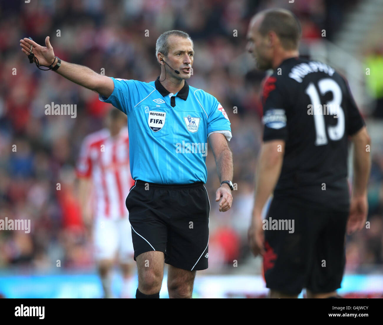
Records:
{"label": "blue shirt sleeve on the referee's raised, outstretched arm", "polygon": [[115,88],[109,97],[98,95],[98,99],[101,102],[106,102],[117,107],[120,111],[126,115],[129,114],[132,107],[132,92],[136,89],[134,80],[119,79],[109,77],[113,80]]}

